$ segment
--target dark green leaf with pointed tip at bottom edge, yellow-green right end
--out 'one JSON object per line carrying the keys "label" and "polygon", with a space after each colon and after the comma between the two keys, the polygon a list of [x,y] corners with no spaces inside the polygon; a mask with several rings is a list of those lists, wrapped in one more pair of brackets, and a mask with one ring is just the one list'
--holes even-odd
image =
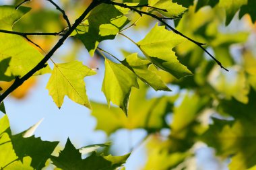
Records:
{"label": "dark green leaf with pointed tip at bottom edge, yellow-green right end", "polygon": [[108,156],[98,156],[96,152],[92,153],[90,157],[86,159],[81,158],[81,153],[76,149],[71,141],[67,139],[65,148],[59,154],[59,157],[51,157],[53,164],[63,170],[114,170],[123,163],[125,163],[128,155],[113,157]]}

